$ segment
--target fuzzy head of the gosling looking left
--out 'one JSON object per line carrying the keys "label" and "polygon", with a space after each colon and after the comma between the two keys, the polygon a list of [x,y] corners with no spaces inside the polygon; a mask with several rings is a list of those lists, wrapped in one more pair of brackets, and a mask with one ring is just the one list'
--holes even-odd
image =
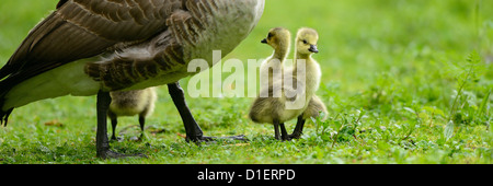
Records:
{"label": "fuzzy head of the gosling looking left", "polygon": [[289,48],[291,33],[284,27],[274,27],[261,43],[272,46],[274,49]]}

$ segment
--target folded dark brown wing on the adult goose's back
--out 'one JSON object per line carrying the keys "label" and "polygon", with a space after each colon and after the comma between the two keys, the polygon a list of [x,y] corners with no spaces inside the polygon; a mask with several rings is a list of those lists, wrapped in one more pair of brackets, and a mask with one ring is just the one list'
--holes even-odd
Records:
{"label": "folded dark brown wing on the adult goose's back", "polygon": [[181,8],[181,0],[60,1],[58,10],[28,34],[0,70],[0,79],[23,74],[16,75],[22,77],[19,83],[43,70],[102,54],[115,44],[147,39],[167,30],[167,18]]}

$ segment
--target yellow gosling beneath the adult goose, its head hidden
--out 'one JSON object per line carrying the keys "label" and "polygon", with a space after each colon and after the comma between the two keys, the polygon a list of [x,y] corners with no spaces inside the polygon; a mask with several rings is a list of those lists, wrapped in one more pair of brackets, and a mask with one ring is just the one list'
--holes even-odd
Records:
{"label": "yellow gosling beneath the adult goose, its head hidden", "polygon": [[154,112],[154,103],[158,98],[156,88],[147,88],[144,90],[115,91],[110,93],[112,103],[107,116],[112,120],[113,136],[116,140],[117,119],[122,116],[139,117],[140,129],[144,135],[146,118]]}

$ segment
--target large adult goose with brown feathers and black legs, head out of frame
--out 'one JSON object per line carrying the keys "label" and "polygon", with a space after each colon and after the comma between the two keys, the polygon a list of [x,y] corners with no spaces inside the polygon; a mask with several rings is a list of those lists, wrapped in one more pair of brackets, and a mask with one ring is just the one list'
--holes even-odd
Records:
{"label": "large adult goose with brown feathers and black legs, head out of frame", "polygon": [[[187,63],[209,67],[254,28],[264,0],[60,0],[0,69],[0,120],[16,107],[64,95],[98,95],[96,154],[110,150],[106,114],[111,91],[168,84],[186,140],[207,141],[177,81]],[[1,124],[0,123],[0,124]],[[242,137],[232,137],[242,139]]]}

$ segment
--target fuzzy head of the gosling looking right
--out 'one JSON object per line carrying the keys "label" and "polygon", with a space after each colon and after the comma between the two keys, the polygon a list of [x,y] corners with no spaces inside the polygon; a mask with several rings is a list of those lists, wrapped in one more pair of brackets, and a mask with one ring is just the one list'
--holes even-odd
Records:
{"label": "fuzzy head of the gosling looking right", "polygon": [[300,55],[311,55],[319,53],[317,43],[319,40],[319,33],[313,28],[303,27],[298,31],[296,36],[296,48]]}

